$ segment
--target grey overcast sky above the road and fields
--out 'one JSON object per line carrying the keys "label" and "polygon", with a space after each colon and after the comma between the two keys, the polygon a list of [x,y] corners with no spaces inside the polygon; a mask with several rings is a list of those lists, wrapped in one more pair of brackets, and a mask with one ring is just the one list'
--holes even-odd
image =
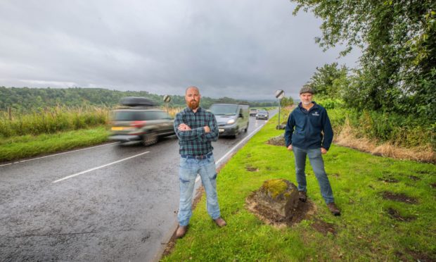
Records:
{"label": "grey overcast sky above the road and fields", "polygon": [[274,99],[325,63],[312,13],[288,0],[0,1],[0,86],[102,87]]}

